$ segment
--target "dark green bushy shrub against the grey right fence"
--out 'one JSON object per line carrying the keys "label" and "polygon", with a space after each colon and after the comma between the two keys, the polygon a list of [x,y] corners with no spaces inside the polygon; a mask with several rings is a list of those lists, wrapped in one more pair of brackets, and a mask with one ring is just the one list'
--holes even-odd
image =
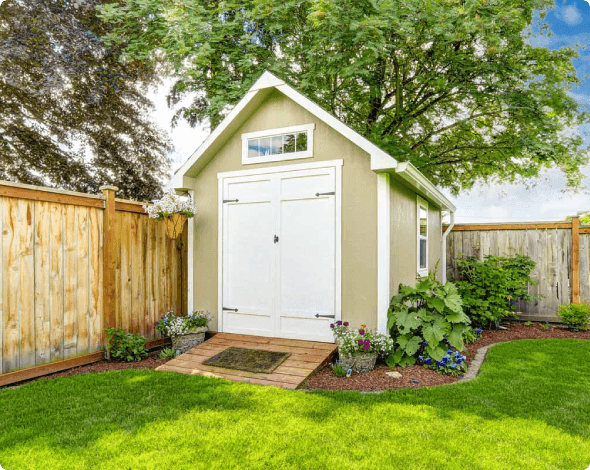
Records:
{"label": "dark green bushy shrub against the grey right fence", "polygon": [[463,299],[463,308],[471,321],[480,326],[497,325],[514,316],[511,301],[539,299],[528,293],[535,262],[528,256],[475,256],[457,260],[453,282]]}

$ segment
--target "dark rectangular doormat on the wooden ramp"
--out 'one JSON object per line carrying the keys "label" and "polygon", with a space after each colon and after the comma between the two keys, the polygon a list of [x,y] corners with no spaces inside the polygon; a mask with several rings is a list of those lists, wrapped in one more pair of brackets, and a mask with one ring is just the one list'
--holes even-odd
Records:
{"label": "dark rectangular doormat on the wooden ramp", "polygon": [[203,364],[223,369],[269,374],[285,362],[290,355],[291,353],[231,347],[210,357]]}

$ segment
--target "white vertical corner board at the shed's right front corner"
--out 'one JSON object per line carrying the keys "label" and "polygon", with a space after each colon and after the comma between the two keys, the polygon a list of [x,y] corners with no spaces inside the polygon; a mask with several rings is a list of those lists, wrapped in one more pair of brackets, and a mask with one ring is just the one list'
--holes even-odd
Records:
{"label": "white vertical corner board at the shed's right front corner", "polygon": [[387,334],[387,310],[391,300],[391,199],[389,173],[377,174],[377,329]]}

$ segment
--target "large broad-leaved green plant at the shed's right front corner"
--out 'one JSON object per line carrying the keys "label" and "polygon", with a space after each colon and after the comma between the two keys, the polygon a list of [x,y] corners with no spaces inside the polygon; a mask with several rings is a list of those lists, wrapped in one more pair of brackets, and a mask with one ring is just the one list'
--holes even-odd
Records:
{"label": "large broad-leaved green plant at the shed's right front corner", "polygon": [[391,299],[387,328],[397,345],[387,363],[402,367],[413,365],[418,356],[440,361],[448,345],[462,350],[470,330],[455,286],[443,286],[432,276],[415,287],[400,284],[399,294]]}

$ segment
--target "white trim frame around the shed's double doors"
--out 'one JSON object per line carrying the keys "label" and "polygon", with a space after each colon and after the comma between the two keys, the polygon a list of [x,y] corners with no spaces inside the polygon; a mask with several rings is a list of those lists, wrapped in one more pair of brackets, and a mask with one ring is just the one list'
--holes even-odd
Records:
{"label": "white trim frame around the shed's double doors", "polygon": [[[322,162],[298,163],[269,168],[248,169],[218,173],[217,203],[217,331],[223,332],[223,182],[225,178],[239,176],[256,176],[269,173],[287,173],[290,171],[314,168],[335,168],[336,170],[336,288],[334,301],[335,321],[342,319],[342,165],[344,161],[327,160]],[[389,301],[388,301],[389,302]]]}

